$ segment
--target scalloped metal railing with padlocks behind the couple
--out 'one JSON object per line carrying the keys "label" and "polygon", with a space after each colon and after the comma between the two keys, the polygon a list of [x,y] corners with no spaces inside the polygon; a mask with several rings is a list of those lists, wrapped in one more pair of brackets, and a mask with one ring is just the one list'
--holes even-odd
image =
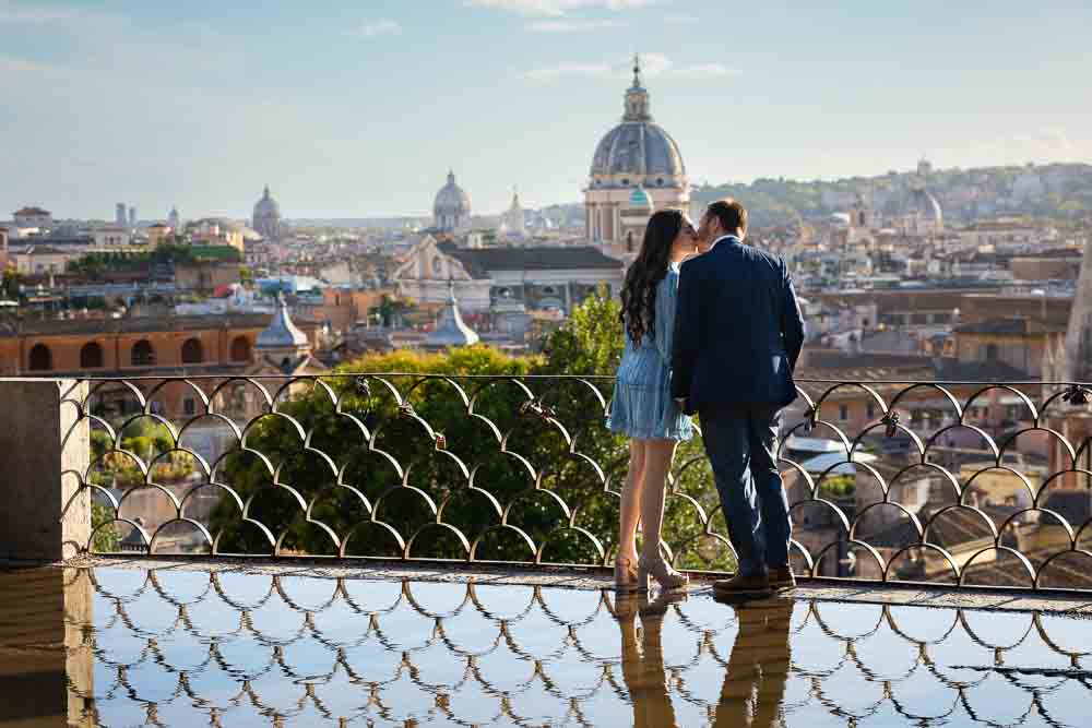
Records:
{"label": "scalloped metal railing with padlocks behind the couple", "polygon": [[[81,484],[117,516],[96,526],[153,552],[601,565],[613,556],[626,451],[604,428],[609,378],[84,384],[69,402],[106,452]],[[797,573],[1092,588],[1085,386],[798,389],[781,446]],[[145,450],[126,449],[134,432]],[[792,450],[815,438],[835,452]],[[134,510],[138,493],[158,515]],[[680,449],[667,510],[664,548],[678,565],[731,569],[698,441]]]}

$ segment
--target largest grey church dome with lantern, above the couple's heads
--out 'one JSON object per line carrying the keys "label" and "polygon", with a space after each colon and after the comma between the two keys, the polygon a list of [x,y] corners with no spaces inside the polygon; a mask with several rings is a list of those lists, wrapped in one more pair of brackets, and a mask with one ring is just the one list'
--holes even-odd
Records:
{"label": "largest grey church dome with lantern, above the couple's heads", "polygon": [[[592,184],[596,177],[624,176],[622,184],[680,187],[686,175],[682,154],[667,131],[652,120],[649,92],[641,82],[641,68],[634,62],[633,85],[626,92],[626,114],[595,147],[592,158]],[[631,176],[626,181],[625,176]]]}

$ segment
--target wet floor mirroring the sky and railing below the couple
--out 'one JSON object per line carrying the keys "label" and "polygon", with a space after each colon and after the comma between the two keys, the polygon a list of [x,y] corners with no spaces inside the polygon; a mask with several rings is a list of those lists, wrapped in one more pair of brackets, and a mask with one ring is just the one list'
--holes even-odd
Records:
{"label": "wet floor mirroring the sky and railing below the couple", "polygon": [[1056,614],[131,566],[0,595],[5,728],[1092,725],[1092,624]]}

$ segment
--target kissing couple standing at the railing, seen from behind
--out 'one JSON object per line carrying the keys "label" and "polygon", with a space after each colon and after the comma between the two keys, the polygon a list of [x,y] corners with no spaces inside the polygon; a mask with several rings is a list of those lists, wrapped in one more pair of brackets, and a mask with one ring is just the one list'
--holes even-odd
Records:
{"label": "kissing couple standing at the railing, seen from behind", "polygon": [[711,204],[697,230],[681,212],[660,211],[626,274],[626,348],[608,419],[630,439],[615,561],[619,590],[645,590],[652,580],[666,589],[687,584],[663,558],[660,534],[667,472],[678,442],[693,434],[695,414],[739,562],[714,589],[795,585],[775,440],[780,410],[796,398],[804,321],[785,262],[745,246],[746,234],[747,211],[733,200]]}

